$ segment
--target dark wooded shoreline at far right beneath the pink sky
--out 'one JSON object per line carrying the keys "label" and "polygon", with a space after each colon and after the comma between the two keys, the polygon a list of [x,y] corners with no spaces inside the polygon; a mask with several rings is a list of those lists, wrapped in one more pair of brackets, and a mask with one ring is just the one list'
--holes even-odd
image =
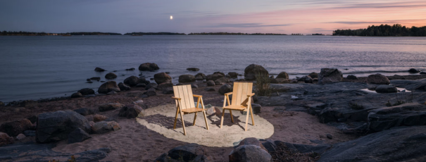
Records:
{"label": "dark wooded shoreline at far right beneath the pink sky", "polygon": [[333,35],[345,36],[426,36],[426,26],[407,28],[401,24],[369,26],[367,29],[334,30]]}

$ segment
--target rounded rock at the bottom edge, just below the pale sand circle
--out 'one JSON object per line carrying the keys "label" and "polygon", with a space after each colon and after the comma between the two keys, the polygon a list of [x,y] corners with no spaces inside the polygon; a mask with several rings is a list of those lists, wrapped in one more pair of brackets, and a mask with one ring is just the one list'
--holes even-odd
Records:
{"label": "rounded rock at the bottom edge, just below the pale sand circle", "polygon": [[229,162],[233,161],[259,161],[272,162],[272,156],[257,145],[242,145],[229,153]]}

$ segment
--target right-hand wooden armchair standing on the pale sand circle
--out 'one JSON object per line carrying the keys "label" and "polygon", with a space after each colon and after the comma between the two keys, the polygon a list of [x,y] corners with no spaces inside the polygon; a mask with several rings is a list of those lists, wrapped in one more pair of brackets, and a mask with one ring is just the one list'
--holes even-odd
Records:
{"label": "right-hand wooden armchair standing on the pale sand circle", "polygon": [[[232,92],[225,93],[223,99],[223,107],[222,107],[222,119],[220,120],[220,128],[223,125],[223,116],[225,115],[225,110],[229,110],[229,114],[231,115],[231,121],[234,122],[232,117],[232,110],[236,111],[247,111],[246,117],[246,128],[244,131],[247,131],[247,124],[249,123],[249,114],[252,116],[252,124],[255,125],[255,120],[253,119],[253,110],[252,110],[252,96],[255,93],[252,93],[253,83],[245,83],[245,82],[234,82],[234,87]],[[232,104],[229,103],[229,95],[232,94]],[[226,101],[228,105],[226,105]]]}

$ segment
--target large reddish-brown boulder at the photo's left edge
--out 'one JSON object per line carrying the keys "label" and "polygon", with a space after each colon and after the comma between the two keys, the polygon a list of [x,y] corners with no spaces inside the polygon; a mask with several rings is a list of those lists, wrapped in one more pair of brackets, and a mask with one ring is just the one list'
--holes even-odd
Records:
{"label": "large reddish-brown boulder at the photo's left edge", "polygon": [[28,119],[21,119],[13,122],[3,123],[0,126],[0,132],[6,133],[11,137],[17,136],[24,131],[31,129],[32,123]]}

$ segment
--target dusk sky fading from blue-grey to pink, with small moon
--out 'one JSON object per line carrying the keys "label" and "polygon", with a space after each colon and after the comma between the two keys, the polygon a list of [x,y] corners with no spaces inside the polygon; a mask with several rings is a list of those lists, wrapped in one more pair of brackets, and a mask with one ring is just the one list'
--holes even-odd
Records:
{"label": "dusk sky fading from blue-grey to pink, with small moon", "polygon": [[0,0],[1,31],[331,34],[397,23],[426,26],[426,1]]}

